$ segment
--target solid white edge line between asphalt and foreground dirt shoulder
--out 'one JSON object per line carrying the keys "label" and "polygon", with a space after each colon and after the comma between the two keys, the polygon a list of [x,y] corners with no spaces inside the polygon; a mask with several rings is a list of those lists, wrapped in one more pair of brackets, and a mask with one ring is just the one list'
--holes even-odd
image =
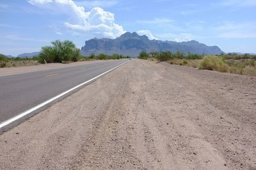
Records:
{"label": "solid white edge line between asphalt and foreground dirt shoulder", "polygon": [[[126,61],[125,63],[127,63],[127,62],[129,62],[129,61]],[[52,101],[54,101],[54,100],[56,100],[56,99],[58,99],[58,98],[60,98],[60,97],[63,97],[64,95],[66,95],[66,94],[69,93],[70,91],[73,91],[74,89],[77,89],[77,88],[83,86],[84,84],[87,84],[88,82],[94,81],[95,79],[99,78],[100,76],[102,76],[102,75],[104,75],[104,74],[106,74],[106,73],[108,73],[108,72],[111,72],[111,71],[114,70],[115,68],[118,68],[119,66],[122,66],[122,65],[124,65],[125,63],[122,63],[122,64],[120,64],[120,65],[118,65],[118,66],[115,66],[114,68],[111,68],[110,70],[108,70],[108,71],[106,71],[106,72],[104,72],[104,73],[101,73],[100,75],[97,75],[96,77],[93,77],[92,79],[90,79],[90,80],[88,80],[88,81],[86,81],[86,82],[83,82],[83,83],[81,83],[81,84],[75,86],[74,88],[68,89],[67,91],[61,93],[60,95],[57,95],[56,97],[53,97],[53,98],[51,98],[51,99],[49,99],[49,100],[46,100],[46,101],[43,102],[42,104],[38,104],[38,105],[36,105],[35,107],[32,107],[31,109],[28,109],[27,111],[24,111],[24,112],[20,113],[19,115],[14,116],[13,118],[10,118],[9,120],[4,121],[3,123],[0,123],[0,128],[3,128],[3,127],[5,127],[5,126],[9,125],[9,124],[12,123],[13,121],[19,120],[20,118],[22,118],[22,117],[28,115],[29,113],[31,113],[31,112],[33,112],[33,111],[36,111],[37,109],[40,109],[40,107],[43,107],[44,105],[47,105],[47,104],[51,103]]]}

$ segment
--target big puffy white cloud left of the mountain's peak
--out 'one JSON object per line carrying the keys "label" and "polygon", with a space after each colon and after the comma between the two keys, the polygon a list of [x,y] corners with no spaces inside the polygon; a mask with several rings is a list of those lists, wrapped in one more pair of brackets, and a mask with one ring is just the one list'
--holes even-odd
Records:
{"label": "big puffy white cloud left of the mountain's peak", "polygon": [[123,27],[115,23],[115,15],[99,7],[86,12],[83,6],[77,6],[72,0],[28,0],[28,3],[66,13],[72,18],[72,22],[65,22],[65,26],[73,31],[109,38],[116,38],[125,33]]}

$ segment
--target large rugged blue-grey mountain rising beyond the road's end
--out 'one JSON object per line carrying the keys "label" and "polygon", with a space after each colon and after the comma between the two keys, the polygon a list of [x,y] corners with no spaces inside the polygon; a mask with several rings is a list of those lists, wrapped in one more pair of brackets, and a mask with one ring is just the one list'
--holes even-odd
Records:
{"label": "large rugged blue-grey mountain rising beyond the road's end", "polygon": [[90,54],[105,53],[123,54],[132,57],[138,56],[144,50],[150,51],[165,51],[171,52],[181,51],[184,53],[191,52],[193,54],[221,54],[223,51],[218,46],[207,46],[204,43],[196,42],[171,42],[160,40],[149,40],[147,36],[140,36],[137,33],[125,33],[116,39],[109,38],[93,38],[85,42],[81,48],[81,54],[89,56]]}

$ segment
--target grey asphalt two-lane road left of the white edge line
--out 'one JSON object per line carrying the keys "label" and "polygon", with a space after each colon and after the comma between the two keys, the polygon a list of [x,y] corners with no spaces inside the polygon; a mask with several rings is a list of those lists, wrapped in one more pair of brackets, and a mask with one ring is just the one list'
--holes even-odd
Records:
{"label": "grey asphalt two-lane road left of the white edge line", "polygon": [[0,77],[0,123],[125,61],[127,59],[86,63]]}

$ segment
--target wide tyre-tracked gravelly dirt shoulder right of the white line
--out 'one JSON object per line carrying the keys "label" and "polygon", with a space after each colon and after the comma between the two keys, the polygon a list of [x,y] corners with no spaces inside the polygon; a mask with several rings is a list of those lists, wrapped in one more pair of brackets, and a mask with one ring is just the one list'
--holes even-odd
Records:
{"label": "wide tyre-tracked gravelly dirt shoulder right of the white line", "polygon": [[0,135],[0,169],[256,169],[256,79],[134,59]]}

